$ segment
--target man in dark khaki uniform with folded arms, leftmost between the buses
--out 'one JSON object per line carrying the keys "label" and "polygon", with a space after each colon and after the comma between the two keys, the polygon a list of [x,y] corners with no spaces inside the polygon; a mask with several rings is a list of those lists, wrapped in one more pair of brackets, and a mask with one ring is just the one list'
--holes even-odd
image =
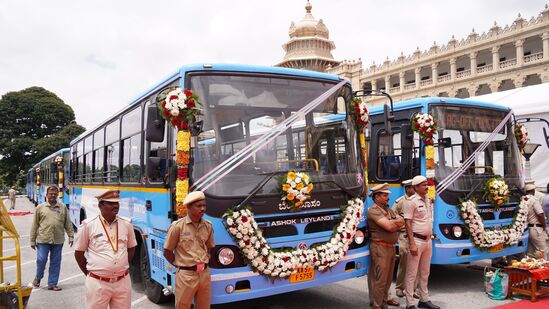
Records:
{"label": "man in dark khaki uniform with folded arms, leftmost between the buses", "polygon": [[404,219],[397,215],[389,202],[389,185],[377,185],[371,189],[374,204],[368,209],[366,220],[370,230],[370,269],[368,271],[368,291],[372,308],[387,308],[389,288],[395,268],[395,243],[398,231],[404,226]]}

